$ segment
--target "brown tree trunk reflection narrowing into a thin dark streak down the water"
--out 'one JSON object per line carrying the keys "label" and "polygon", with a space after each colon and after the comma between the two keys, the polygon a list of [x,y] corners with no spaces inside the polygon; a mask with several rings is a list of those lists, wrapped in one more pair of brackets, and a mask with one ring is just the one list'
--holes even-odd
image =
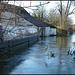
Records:
{"label": "brown tree trunk reflection narrowing into a thin dark streak down the water", "polygon": [[59,54],[58,54],[58,60],[59,60],[59,65],[58,65],[58,73],[60,73],[62,70],[62,49],[67,47],[67,38],[66,37],[57,37],[57,45],[59,49]]}

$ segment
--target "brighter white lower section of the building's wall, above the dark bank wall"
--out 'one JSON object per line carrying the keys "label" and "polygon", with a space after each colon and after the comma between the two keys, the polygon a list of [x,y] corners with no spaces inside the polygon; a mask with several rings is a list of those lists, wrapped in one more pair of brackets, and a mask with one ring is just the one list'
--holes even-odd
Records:
{"label": "brighter white lower section of the building's wall, above the dark bank wall", "polygon": [[[6,26],[3,26],[3,30],[5,27]],[[35,27],[8,26],[3,36],[4,40],[12,40],[14,38],[28,36],[33,33],[37,33],[37,29]]]}

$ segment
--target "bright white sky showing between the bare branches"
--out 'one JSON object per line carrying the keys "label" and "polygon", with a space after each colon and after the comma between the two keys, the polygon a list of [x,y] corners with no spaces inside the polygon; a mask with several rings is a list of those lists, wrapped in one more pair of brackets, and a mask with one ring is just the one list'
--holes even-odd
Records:
{"label": "bright white sky showing between the bare branches", "polygon": [[[31,1],[31,6],[39,5],[39,2],[40,1]],[[41,1],[41,2],[43,3],[43,2],[49,2],[49,1]],[[49,4],[46,4],[45,5],[46,12],[49,12],[49,10],[54,9],[58,5],[59,2],[60,1],[50,1]],[[66,5],[66,2],[67,1],[64,1],[64,4],[65,5]],[[21,5],[22,7],[26,7],[26,6],[30,6],[30,1],[15,1],[15,2],[14,1],[9,1],[9,4],[15,4],[17,6]],[[74,8],[74,6],[71,7],[71,10],[73,8]],[[35,9],[35,7],[32,7],[32,9]],[[31,10],[29,8],[25,8],[25,10],[27,12],[29,12],[29,13],[32,13],[33,12],[33,10]],[[72,18],[73,23],[75,24],[75,14],[72,14],[70,16],[70,18]]]}

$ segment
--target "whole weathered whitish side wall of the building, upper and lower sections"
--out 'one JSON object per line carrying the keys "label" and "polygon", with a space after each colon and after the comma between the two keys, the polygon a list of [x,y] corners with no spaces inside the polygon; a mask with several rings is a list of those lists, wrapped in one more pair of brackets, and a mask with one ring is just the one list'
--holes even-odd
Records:
{"label": "whole weathered whitish side wall of the building, upper and lower sections", "polygon": [[[37,26],[17,14],[13,14],[11,12],[4,12],[2,13],[1,17],[5,18],[1,19],[3,30],[7,26],[4,33],[4,40],[12,40],[17,37],[23,37],[37,32]],[[12,18],[13,20],[9,20],[9,18]],[[10,32],[11,29],[12,31]]]}

